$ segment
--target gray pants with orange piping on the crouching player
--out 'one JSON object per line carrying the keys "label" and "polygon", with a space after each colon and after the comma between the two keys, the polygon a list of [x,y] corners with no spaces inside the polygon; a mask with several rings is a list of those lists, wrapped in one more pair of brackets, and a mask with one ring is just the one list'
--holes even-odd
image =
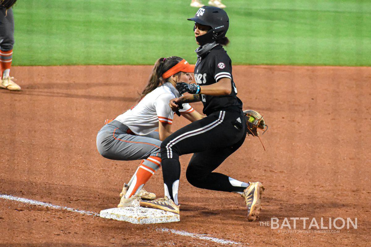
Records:
{"label": "gray pants with orange piping on the crouching player", "polygon": [[150,156],[161,158],[158,132],[134,136],[127,131],[128,127],[116,120],[103,126],[96,137],[99,153],[111,160],[145,160]]}

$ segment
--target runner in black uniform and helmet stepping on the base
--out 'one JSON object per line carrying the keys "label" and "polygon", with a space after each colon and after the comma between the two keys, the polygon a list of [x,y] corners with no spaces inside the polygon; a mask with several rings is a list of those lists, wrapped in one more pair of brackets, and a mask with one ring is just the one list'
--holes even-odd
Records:
{"label": "runner in black uniform and helmet stepping on the base", "polygon": [[194,153],[187,168],[187,180],[198,188],[235,192],[245,198],[248,220],[259,216],[263,186],[259,182],[244,183],[213,172],[236,151],[246,137],[246,121],[242,101],[232,76],[232,61],[222,45],[229,43],[225,34],[229,27],[227,13],[217,7],[204,6],[195,22],[197,63],[194,76],[197,84],[178,83],[180,94],[189,94],[170,101],[173,110],[181,103],[201,101],[207,117],[171,134],[161,144],[162,174],[165,198],[141,201],[141,206],[179,213],[179,156]]}

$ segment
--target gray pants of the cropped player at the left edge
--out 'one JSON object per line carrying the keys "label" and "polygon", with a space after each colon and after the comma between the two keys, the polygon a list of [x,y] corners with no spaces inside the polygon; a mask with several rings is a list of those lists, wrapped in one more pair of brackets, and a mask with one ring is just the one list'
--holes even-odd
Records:
{"label": "gray pants of the cropped player at the left edge", "polygon": [[[5,16],[6,15],[6,16]],[[10,51],[14,45],[14,18],[12,8],[0,6],[0,50]]]}

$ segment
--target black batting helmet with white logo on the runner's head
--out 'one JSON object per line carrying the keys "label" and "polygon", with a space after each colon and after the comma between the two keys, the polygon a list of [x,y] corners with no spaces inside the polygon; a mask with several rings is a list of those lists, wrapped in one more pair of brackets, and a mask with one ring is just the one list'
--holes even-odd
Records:
{"label": "black batting helmet with white logo on the runner's head", "polygon": [[229,27],[226,11],[213,6],[203,6],[193,18],[187,20],[211,27],[206,34],[196,37],[201,46],[225,37]]}

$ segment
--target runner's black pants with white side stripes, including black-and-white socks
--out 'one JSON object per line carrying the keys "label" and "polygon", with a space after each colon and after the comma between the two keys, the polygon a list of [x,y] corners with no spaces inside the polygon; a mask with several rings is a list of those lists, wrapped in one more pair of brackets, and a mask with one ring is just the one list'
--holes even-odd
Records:
{"label": "runner's black pants with white side stripes, including black-and-white socks", "polygon": [[228,176],[212,171],[236,151],[245,138],[246,121],[242,111],[217,111],[175,131],[161,144],[165,195],[170,195],[178,204],[179,156],[189,153],[194,153],[186,172],[190,184],[208,190],[243,191],[246,187],[232,186]]}

